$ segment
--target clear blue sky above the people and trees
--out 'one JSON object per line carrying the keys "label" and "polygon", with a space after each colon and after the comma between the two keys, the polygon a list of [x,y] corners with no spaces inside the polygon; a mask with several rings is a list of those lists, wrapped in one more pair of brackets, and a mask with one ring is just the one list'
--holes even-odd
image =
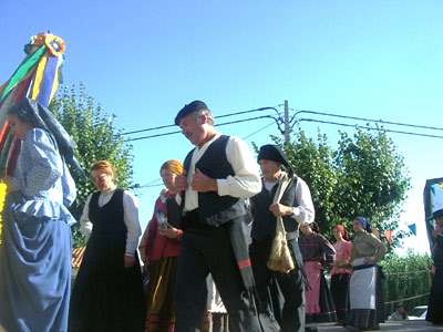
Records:
{"label": "clear blue sky above the people and trees", "polygon": [[[442,14],[441,0],[0,0],[0,81],[24,58],[30,35],[49,30],[66,43],[63,84],[83,82],[125,132],[173,124],[176,113],[197,98],[216,116],[288,100],[295,110],[443,127]],[[272,112],[227,120],[264,114]],[[279,134],[271,123],[219,129],[247,137],[249,146],[262,145]],[[320,127],[331,145],[339,129],[354,131],[313,122],[301,127],[311,137]],[[442,131],[420,133],[443,136]],[[416,224],[419,236],[406,246],[423,252],[423,188],[426,179],[443,177],[443,139],[390,137],[412,178],[402,225]],[[162,163],[183,160],[192,148],[179,134],[132,144],[134,180],[142,186],[159,184]],[[161,189],[138,191],[143,228]]]}

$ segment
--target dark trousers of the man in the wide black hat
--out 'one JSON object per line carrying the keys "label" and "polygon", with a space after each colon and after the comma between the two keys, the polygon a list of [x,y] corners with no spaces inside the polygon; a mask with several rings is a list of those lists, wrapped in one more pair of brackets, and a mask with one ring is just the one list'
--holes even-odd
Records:
{"label": "dark trousers of the man in the wide black hat", "polygon": [[[269,286],[272,278],[284,297],[281,309],[281,332],[303,332],[305,331],[305,284],[301,271],[296,268],[289,273],[271,271],[267,268],[270,255],[271,240],[256,241],[249,246],[249,255],[253,263],[254,278],[260,297],[260,311],[274,318],[270,308]],[[293,258],[293,252],[292,252]]]}

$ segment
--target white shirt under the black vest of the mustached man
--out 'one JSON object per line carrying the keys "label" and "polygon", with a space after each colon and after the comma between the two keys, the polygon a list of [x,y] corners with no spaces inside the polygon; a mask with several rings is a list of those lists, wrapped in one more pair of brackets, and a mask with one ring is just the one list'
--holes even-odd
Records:
{"label": "white shirt under the black vest of the mustached man", "polygon": [[[195,164],[202,158],[207,148],[214,141],[220,137],[217,133],[213,139],[206,142],[202,147],[194,149],[189,169],[187,170],[188,188],[185,191],[184,211],[190,211],[198,208],[198,191],[193,190],[190,183],[195,174]],[[226,144],[226,156],[234,169],[234,176],[227,178],[217,178],[217,194],[219,196],[233,196],[237,198],[248,198],[261,190],[260,175],[253,153],[244,141],[238,137],[229,136]],[[181,203],[179,195],[176,196],[177,203]]]}

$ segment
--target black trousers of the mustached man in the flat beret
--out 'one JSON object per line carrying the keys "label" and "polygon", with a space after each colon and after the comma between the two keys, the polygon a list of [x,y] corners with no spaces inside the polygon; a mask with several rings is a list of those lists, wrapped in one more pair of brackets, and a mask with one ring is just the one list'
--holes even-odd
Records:
{"label": "black trousers of the mustached man in the flat beret", "polygon": [[200,331],[209,272],[229,314],[229,331],[260,331],[226,226],[187,229],[182,236],[175,281],[175,332]]}

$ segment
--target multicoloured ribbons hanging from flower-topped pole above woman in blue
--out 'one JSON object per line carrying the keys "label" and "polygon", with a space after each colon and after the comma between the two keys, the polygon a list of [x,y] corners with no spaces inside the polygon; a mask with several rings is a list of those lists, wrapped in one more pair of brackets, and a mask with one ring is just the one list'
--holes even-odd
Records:
{"label": "multicoloured ribbons hanging from flower-topped pole above woman in blue", "polygon": [[56,35],[33,35],[24,45],[27,56],[0,86],[0,177],[12,175],[20,153],[20,142],[9,134],[7,112],[22,97],[30,97],[48,107],[61,79],[64,49],[63,40]]}

